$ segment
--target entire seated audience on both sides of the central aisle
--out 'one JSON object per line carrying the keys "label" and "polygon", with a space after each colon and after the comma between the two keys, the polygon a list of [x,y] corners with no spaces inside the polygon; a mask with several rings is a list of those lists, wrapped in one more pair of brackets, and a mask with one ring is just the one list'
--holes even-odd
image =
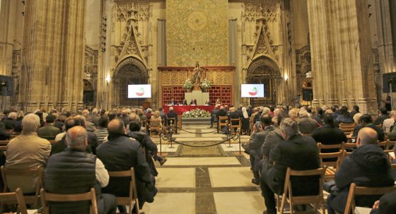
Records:
{"label": "entire seated audience on both sides of the central aisle", "polygon": [[[0,137],[10,140],[7,145],[4,166],[24,170],[41,167],[45,171],[45,190],[60,194],[89,191],[95,188],[99,213],[115,213],[115,196],[129,194],[129,181],[109,177],[108,172],[129,170],[134,167],[139,207],[151,203],[156,196],[158,175],[155,161],[163,165],[165,157],[158,155],[156,145],[148,132],[149,125],[175,124],[177,113],[170,107],[168,113],[162,108],[153,109],[86,109],[78,112],[51,109],[37,110],[23,115],[11,109],[4,111],[0,123]],[[11,114],[11,116],[10,116]],[[250,155],[252,183],[260,185],[267,213],[276,213],[274,194],[284,191],[287,167],[291,170],[314,170],[323,167],[320,153],[334,153],[339,149],[320,149],[322,145],[355,143],[349,156],[342,157],[340,167],[334,174],[334,186],[338,191],[329,192],[328,213],[343,213],[349,186],[392,186],[395,173],[390,170],[396,160],[377,145],[378,141],[396,139],[395,112],[380,109],[378,117],[362,114],[354,106],[347,107],[243,107],[216,106],[211,112],[214,126],[219,117],[240,119],[241,130],[250,135],[244,145]],[[387,118],[388,117],[388,118]],[[174,121],[168,121],[174,118]],[[375,121],[382,120],[382,124]],[[19,121],[19,123],[18,123]],[[146,125],[142,124],[146,121]],[[384,131],[385,122],[388,131]],[[6,128],[8,124],[8,129]],[[344,126],[351,131],[347,132]],[[16,132],[14,130],[21,129]],[[9,129],[11,128],[11,129]],[[51,141],[51,142],[50,142]],[[393,145],[388,145],[389,149]],[[342,148],[341,148],[342,149]],[[65,162],[73,157],[75,162]],[[65,166],[65,167],[62,167]],[[87,172],[78,178],[76,173]],[[71,173],[68,173],[71,172]],[[76,173],[74,173],[76,172]],[[62,177],[62,174],[67,176]],[[24,194],[34,194],[37,177],[13,177],[7,179],[9,189],[21,188]],[[73,181],[73,182],[71,182]],[[71,185],[75,183],[75,185]],[[294,196],[314,194],[318,189],[317,177],[292,180]],[[56,186],[60,186],[57,188]],[[363,197],[356,200],[358,206],[374,206],[377,213],[388,208],[390,196]],[[379,201],[378,201],[379,200]],[[381,201],[382,200],[382,201]],[[385,203],[386,202],[386,203]],[[58,204],[54,210],[67,204]],[[74,206],[76,212],[84,206]],[[118,206],[125,212],[124,206]],[[306,210],[309,206],[296,206]],[[71,209],[73,210],[73,209]]]}

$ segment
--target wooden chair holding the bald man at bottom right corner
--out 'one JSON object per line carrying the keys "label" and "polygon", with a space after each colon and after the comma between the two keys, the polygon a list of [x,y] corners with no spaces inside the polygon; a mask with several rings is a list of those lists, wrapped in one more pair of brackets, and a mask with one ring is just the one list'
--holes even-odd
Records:
{"label": "wooden chair holding the bald man at bottom right corner", "polygon": [[388,187],[363,187],[363,186],[356,186],[356,184],[352,183],[351,186],[349,187],[347,206],[345,207],[344,214],[354,213],[355,196],[384,195],[392,191],[396,191],[396,185],[388,186]]}

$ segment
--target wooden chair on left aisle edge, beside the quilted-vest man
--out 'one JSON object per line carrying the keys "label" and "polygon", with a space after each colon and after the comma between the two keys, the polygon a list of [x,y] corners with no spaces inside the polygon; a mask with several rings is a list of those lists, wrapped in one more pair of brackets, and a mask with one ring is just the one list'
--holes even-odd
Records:
{"label": "wooden chair on left aisle edge, beside the quilted-vest man", "polygon": [[134,168],[127,171],[109,171],[110,177],[131,177],[131,182],[129,184],[129,197],[117,197],[117,205],[127,205],[129,206],[129,214],[132,214],[132,209],[136,206],[136,213],[140,213],[139,200],[136,191],[136,179]]}

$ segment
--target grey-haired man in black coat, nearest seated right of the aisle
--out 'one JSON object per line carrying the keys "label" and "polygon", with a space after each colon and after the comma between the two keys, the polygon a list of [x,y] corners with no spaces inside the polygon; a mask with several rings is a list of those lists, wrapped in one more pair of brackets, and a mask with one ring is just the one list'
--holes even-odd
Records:
{"label": "grey-haired man in black coat, nearest seated right of the aisle", "polygon": [[[314,170],[320,166],[318,146],[310,136],[301,136],[298,123],[290,118],[281,123],[282,141],[269,153],[269,161],[274,162],[273,167],[264,171],[260,177],[260,187],[264,196],[267,214],[276,213],[274,193],[281,195],[287,167],[291,170]],[[294,196],[318,194],[318,177],[291,178],[291,188]]]}

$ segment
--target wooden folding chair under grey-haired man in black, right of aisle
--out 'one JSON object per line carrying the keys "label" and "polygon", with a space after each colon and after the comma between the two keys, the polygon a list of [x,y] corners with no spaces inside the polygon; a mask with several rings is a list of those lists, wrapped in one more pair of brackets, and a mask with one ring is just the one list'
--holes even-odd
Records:
{"label": "wooden folding chair under grey-haired man in black, right of aisle", "polygon": [[[325,169],[322,168],[319,168],[317,170],[296,171],[296,170],[291,170],[288,167],[286,171],[286,179],[284,184],[284,194],[282,195],[281,207],[279,208],[279,212],[281,214],[284,213],[285,203],[287,202],[290,205],[290,213],[294,213],[293,206],[303,205],[303,204],[313,204],[315,213],[317,213],[316,210],[318,210],[318,207],[321,204],[322,213],[325,213],[325,200],[323,198],[324,174],[325,174]],[[314,196],[293,196],[293,193],[291,191],[290,177],[313,176],[313,175],[320,176],[318,194]]]}

